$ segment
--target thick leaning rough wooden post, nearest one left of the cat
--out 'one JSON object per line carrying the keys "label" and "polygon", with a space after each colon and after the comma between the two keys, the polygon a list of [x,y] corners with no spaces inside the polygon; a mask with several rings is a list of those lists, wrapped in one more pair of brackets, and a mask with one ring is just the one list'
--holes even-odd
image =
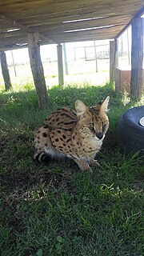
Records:
{"label": "thick leaning rough wooden post, nearest one left of the cat", "polygon": [[49,103],[49,97],[42,67],[38,33],[28,34],[28,50],[35,89],[38,95],[38,106],[42,108]]}

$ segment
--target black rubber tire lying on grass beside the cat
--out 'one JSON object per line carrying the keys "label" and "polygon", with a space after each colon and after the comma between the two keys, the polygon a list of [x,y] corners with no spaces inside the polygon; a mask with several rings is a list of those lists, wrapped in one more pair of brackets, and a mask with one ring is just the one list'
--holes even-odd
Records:
{"label": "black rubber tire lying on grass beside the cat", "polygon": [[140,155],[144,156],[144,127],[139,123],[142,117],[144,117],[144,106],[126,110],[118,119],[117,137],[118,144],[127,153],[141,150]]}

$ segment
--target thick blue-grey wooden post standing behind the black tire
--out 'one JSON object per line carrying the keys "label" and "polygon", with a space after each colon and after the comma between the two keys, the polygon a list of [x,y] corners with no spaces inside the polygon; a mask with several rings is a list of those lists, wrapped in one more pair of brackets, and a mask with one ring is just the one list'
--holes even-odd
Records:
{"label": "thick blue-grey wooden post standing behind the black tire", "polygon": [[134,18],[131,23],[132,46],[130,94],[132,98],[140,98],[142,96],[143,24],[143,18]]}

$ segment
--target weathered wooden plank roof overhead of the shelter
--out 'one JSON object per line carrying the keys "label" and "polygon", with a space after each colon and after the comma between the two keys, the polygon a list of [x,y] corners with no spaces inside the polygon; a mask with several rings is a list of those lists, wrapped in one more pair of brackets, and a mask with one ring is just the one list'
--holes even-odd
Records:
{"label": "weathered wooden plank roof overhead of the shelter", "polygon": [[41,44],[115,38],[144,0],[1,0],[0,50],[27,44],[39,32]]}

